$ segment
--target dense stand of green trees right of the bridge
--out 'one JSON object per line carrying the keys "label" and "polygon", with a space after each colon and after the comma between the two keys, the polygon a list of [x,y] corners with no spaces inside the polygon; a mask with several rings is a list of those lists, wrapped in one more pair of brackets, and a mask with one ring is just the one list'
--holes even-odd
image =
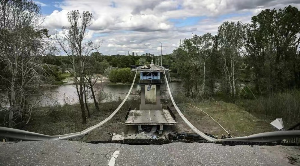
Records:
{"label": "dense stand of green trees right of the bridge", "polygon": [[221,96],[241,102],[259,116],[296,122],[300,119],[296,99],[300,86],[299,21],[296,7],[266,9],[249,24],[227,21],[215,36],[206,33],[184,39],[173,51],[184,80],[183,95],[194,100]]}

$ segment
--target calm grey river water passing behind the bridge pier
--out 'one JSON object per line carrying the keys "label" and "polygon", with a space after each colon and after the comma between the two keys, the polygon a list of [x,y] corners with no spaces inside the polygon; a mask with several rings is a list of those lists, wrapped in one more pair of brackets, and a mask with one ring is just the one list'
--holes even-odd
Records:
{"label": "calm grey river water passing behind the bridge pier", "polygon": [[[179,90],[182,87],[183,83],[182,82],[172,82],[172,86],[173,89],[171,88],[170,85],[170,89],[171,92],[173,94],[173,92],[175,92],[176,90]],[[124,85],[124,84],[120,84],[120,85],[97,85],[96,87],[96,91],[100,91],[103,90],[104,94],[103,95],[105,97],[104,100],[102,100],[101,102],[107,102],[107,101],[112,101],[112,100],[119,100],[119,98],[121,98],[122,100],[125,98],[125,96],[127,95],[131,85]],[[141,86],[138,84],[135,84],[132,88],[132,93],[133,95],[130,95],[130,98],[134,97],[134,96],[139,96],[140,94],[138,93],[138,91],[140,91]],[[161,95],[165,96],[165,97],[169,97],[167,95],[167,86],[166,85],[162,85],[161,86]],[[47,90],[44,90],[43,92],[47,92]],[[41,101],[40,105],[41,106],[49,106],[49,105],[54,105],[54,104],[61,104],[64,105],[65,103],[69,103],[69,104],[73,104],[73,103],[78,103],[78,97],[77,97],[77,92],[76,92],[76,88],[74,85],[63,85],[63,86],[55,86],[55,87],[51,87],[51,89],[49,90],[51,91],[51,96],[53,100],[49,100],[49,99],[44,99]],[[49,92],[48,91],[48,92]],[[164,98],[164,97],[162,97]],[[92,98],[88,99],[88,102],[93,102]]]}

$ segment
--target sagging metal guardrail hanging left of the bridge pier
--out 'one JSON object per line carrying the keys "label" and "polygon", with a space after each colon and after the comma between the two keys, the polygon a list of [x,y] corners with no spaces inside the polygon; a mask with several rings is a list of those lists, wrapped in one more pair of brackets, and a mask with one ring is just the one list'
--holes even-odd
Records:
{"label": "sagging metal guardrail hanging left of the bridge pier", "polygon": [[33,141],[65,140],[65,139],[70,139],[70,138],[74,138],[74,137],[79,137],[79,136],[85,135],[85,134],[87,134],[87,133],[89,133],[89,132],[97,129],[98,127],[102,126],[104,123],[106,123],[111,118],[113,118],[114,115],[116,115],[116,113],[123,106],[123,104],[127,100],[128,96],[130,95],[132,87],[134,86],[135,78],[137,77],[137,70],[138,70],[138,68],[136,68],[136,73],[135,73],[134,79],[132,81],[131,87],[130,87],[129,92],[126,95],[125,99],[122,101],[122,103],[104,121],[101,121],[100,123],[98,123],[98,124],[96,124],[96,125],[94,125],[92,127],[89,127],[88,129],[85,129],[85,130],[83,130],[81,132],[64,134],[64,135],[44,135],[44,134],[33,133],[33,132],[19,130],[19,129],[12,129],[12,128],[7,128],[7,127],[0,127],[0,135],[4,136],[4,137],[7,137],[7,138],[16,138],[16,139],[33,140]]}

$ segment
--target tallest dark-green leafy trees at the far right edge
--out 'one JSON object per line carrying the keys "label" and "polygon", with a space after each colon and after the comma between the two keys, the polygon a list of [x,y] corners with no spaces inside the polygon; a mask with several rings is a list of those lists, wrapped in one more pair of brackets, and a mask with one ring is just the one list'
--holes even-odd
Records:
{"label": "tallest dark-green leafy trees at the far right edge", "polygon": [[300,11],[263,10],[247,25],[245,56],[255,74],[260,95],[290,87],[299,88]]}

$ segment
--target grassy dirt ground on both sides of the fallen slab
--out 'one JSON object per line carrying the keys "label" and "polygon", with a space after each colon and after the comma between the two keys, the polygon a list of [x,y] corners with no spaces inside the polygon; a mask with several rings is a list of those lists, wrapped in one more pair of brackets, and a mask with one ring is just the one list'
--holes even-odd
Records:
{"label": "grassy dirt ground on both sides of the fallen slab", "polygon": [[[129,106],[131,106],[132,109],[138,108],[139,102],[139,100],[125,102],[119,112],[106,124],[83,137],[74,138],[72,140],[104,141],[110,139],[110,133],[121,134],[123,132],[125,136],[137,133],[137,126],[126,126],[124,123]],[[87,124],[81,124],[82,119],[79,105],[59,106],[55,109],[44,108],[32,115],[32,121],[30,121],[25,130],[46,135],[80,132],[103,121],[120,103],[121,102],[100,103],[100,112],[93,110],[94,106],[90,104],[91,118],[87,118]],[[175,131],[192,132],[190,127],[180,118],[174,107],[171,107],[172,104],[170,101],[162,100],[162,104],[164,109],[170,106],[177,117],[177,124],[170,126],[165,125],[164,133],[160,135],[161,137],[164,138],[164,134]],[[208,113],[233,137],[272,131],[270,121],[260,120],[232,103],[214,101],[210,103],[202,102],[191,104]],[[219,138],[222,134],[227,135],[215,121],[199,109],[187,104],[178,104],[178,106],[184,116],[203,133],[218,135]]]}

